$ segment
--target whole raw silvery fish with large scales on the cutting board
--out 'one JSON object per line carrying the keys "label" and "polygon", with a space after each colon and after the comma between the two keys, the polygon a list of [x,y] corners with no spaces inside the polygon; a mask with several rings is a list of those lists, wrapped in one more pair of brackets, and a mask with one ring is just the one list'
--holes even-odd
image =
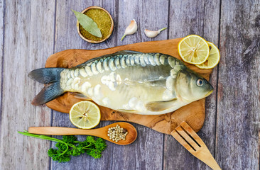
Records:
{"label": "whole raw silvery fish with large scales on the cutting board", "polygon": [[121,51],[70,69],[45,68],[30,73],[36,80],[39,75],[48,76],[46,80],[52,84],[36,96],[36,104],[71,91],[77,92],[75,97],[80,93],[80,98],[91,98],[100,106],[146,115],[175,111],[212,92],[207,80],[175,57],[161,53]]}

